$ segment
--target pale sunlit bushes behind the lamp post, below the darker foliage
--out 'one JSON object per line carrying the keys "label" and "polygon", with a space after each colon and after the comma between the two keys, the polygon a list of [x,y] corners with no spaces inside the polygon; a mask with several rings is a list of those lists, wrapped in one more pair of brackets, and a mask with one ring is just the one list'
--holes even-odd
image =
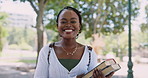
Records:
{"label": "pale sunlit bushes behind the lamp post, below the darker foliage", "polygon": [[[132,31],[132,52],[133,55],[139,49],[141,44],[148,42],[148,34],[140,31]],[[117,57],[122,59],[128,53],[128,33],[123,32],[118,35],[103,36],[105,46],[103,47],[103,54],[113,52]]]}

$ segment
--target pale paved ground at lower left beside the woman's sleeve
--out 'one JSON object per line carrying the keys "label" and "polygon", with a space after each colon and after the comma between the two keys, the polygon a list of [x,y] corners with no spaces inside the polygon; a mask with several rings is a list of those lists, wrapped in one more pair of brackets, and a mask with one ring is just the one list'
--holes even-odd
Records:
{"label": "pale paved ground at lower left beside the woman's sleeve", "polygon": [[33,78],[34,65],[0,62],[0,78]]}

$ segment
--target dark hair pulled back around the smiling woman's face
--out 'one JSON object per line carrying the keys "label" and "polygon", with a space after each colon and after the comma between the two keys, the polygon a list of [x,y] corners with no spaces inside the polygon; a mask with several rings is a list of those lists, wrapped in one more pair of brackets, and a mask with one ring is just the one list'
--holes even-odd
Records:
{"label": "dark hair pulled back around the smiling woman's face", "polygon": [[67,9],[67,10],[73,10],[73,11],[78,15],[78,17],[79,17],[79,22],[80,22],[80,31],[79,31],[79,33],[81,33],[81,31],[82,31],[82,17],[81,17],[81,15],[80,15],[81,12],[78,11],[77,9],[73,8],[73,7],[70,7],[70,6],[64,7],[64,8],[58,13],[57,19],[56,19],[57,26],[58,26],[58,19],[59,19],[59,16],[60,16],[61,12],[62,12],[63,10],[65,10],[65,9]]}

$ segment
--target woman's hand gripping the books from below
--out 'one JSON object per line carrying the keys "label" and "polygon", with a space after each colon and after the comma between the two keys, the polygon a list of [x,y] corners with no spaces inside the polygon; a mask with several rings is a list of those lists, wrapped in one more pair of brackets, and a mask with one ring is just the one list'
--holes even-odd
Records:
{"label": "woman's hand gripping the books from below", "polygon": [[93,78],[111,78],[113,74],[114,72],[105,77],[101,70],[95,69],[93,72]]}

